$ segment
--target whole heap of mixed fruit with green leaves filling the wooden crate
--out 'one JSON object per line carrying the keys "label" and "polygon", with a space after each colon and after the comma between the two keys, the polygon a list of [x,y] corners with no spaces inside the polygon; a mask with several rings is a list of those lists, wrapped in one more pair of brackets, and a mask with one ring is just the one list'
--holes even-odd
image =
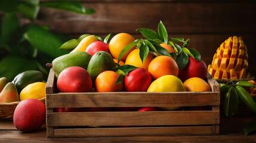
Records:
{"label": "whole heap of mixed fruit with green leaves filling the wooden crate", "polygon": [[[205,62],[201,60],[201,55],[195,49],[186,48],[189,45],[189,39],[186,41],[183,38],[168,39],[168,33],[162,21],[158,25],[158,33],[150,29],[137,30],[147,39],[134,39],[128,33],[118,33],[110,39],[109,46],[107,41],[110,35],[106,36],[104,42],[97,36],[85,35],[84,39],[79,38],[82,43],[80,42],[76,47],[69,42],[64,43],[62,48],[75,49],[53,61],[55,74],[61,71],[57,76],[59,91],[88,92],[79,90],[79,84],[86,85],[88,82],[90,89],[92,84],[96,92],[179,92],[186,91],[183,82],[187,79],[197,77],[202,81],[206,80],[208,71]],[[177,43],[183,45],[180,46]],[[78,52],[81,53],[78,54]],[[82,52],[84,55],[89,52],[92,57],[89,58],[87,55],[82,59],[79,57]],[[88,63],[88,66],[81,66],[78,63],[85,65]],[[84,72],[88,71],[90,81],[89,78],[82,79],[82,75],[79,75],[81,73],[68,74],[66,71],[63,73],[64,70],[78,67],[84,69]],[[196,80],[187,82],[187,85],[192,86],[194,81]],[[202,81],[193,83],[193,86],[201,85]],[[73,89],[68,90],[71,87]],[[191,90],[210,91],[209,85],[201,90],[193,88]],[[165,110],[174,108],[179,107],[165,107]]]}

